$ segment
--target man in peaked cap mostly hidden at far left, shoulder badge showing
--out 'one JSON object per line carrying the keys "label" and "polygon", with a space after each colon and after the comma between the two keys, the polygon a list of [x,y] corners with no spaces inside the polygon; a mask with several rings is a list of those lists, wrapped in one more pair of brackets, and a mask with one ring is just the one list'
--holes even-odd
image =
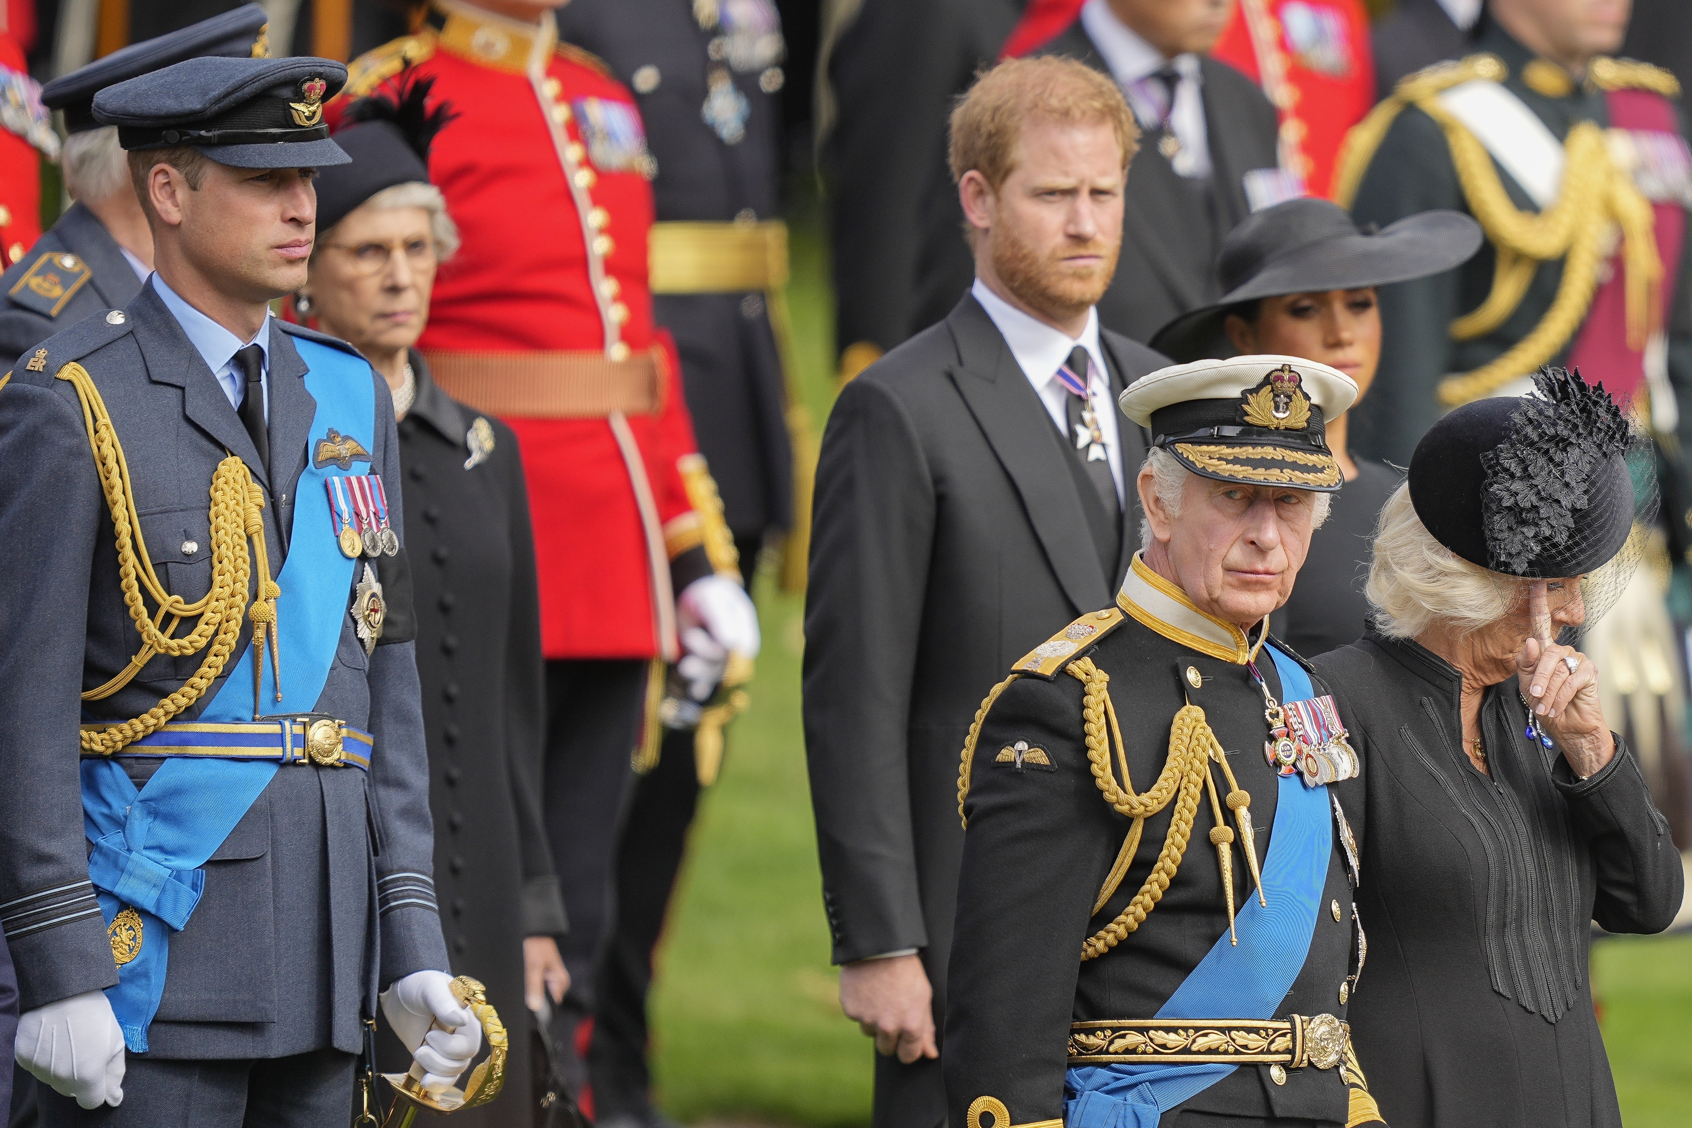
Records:
{"label": "man in peaked cap mostly hidden at far left, shoulder badge showing", "polygon": [[117,129],[95,120],[95,95],[183,59],[262,56],[264,20],[249,3],[113,51],[42,88],[46,107],[64,112],[64,188],[76,203],[0,276],[0,367],[83,318],[129,304],[152,271],[152,232]]}

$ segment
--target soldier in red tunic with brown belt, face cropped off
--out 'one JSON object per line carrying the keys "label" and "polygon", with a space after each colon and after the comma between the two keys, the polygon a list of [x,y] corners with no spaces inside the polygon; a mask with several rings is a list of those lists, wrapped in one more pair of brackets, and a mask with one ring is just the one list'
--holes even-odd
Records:
{"label": "soldier in red tunic with brown belt, face cropped off", "polygon": [[[548,660],[543,800],[570,917],[569,1033],[591,1006],[629,754],[645,704],[662,697],[648,671],[680,658],[704,698],[731,651],[756,653],[758,621],[675,347],[653,326],[656,169],[640,113],[599,59],[558,42],[552,7],[506,0],[506,14],[533,17],[518,20],[435,0],[415,34],[354,63],[347,95],[426,76],[459,115],[435,140],[430,179],[464,247],[442,267],[418,345],[447,394],[497,413],[523,446]],[[437,553],[416,567],[452,563]]]}

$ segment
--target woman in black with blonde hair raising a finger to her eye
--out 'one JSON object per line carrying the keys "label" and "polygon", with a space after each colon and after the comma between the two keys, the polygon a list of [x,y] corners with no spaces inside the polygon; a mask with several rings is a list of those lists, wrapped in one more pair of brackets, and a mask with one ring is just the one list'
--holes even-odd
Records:
{"label": "woman in black with blonde hair raising a finger to her eye", "polygon": [[1421,440],[1381,512],[1374,624],[1313,661],[1364,764],[1340,786],[1364,790],[1369,934],[1335,991],[1393,1128],[1619,1128],[1590,925],[1662,932],[1680,906],[1668,824],[1558,643],[1626,582],[1648,470],[1602,386],[1535,384]]}

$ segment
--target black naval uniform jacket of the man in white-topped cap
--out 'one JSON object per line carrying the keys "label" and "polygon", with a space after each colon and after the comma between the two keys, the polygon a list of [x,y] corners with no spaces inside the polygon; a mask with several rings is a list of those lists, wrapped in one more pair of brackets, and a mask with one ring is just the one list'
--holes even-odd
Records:
{"label": "black naval uniform jacket of the man in white-topped cap", "polygon": [[[1161,583],[1169,592],[1179,590]],[[1069,656],[1037,671],[1027,661],[1015,663],[1022,676],[1003,690],[981,724],[968,776],[959,778],[961,795],[968,786],[961,807],[970,829],[958,878],[946,1011],[953,1128],[968,1126],[964,1109],[981,1096],[1003,1101],[1012,1125],[1058,1125],[1064,1114],[1069,1023],[1152,1018],[1228,932],[1217,851],[1206,837],[1215,820],[1208,800],[1200,798],[1186,856],[1162,900],[1112,950],[1081,959],[1083,942],[1129,905],[1152,871],[1176,803],[1145,820],[1127,878],[1093,913],[1130,820],[1103,800],[1095,781],[1081,715],[1083,685],[1064,671],[1069,665],[1091,658],[1110,676],[1107,688],[1127,747],[1129,778],[1140,793],[1151,790],[1164,768],[1176,712],[1186,704],[1203,709],[1228,751],[1240,788],[1252,797],[1257,857],[1269,856],[1279,785],[1262,756],[1269,726],[1262,692],[1245,666],[1250,643],[1237,627],[1181,602],[1189,616],[1198,616],[1186,626],[1205,629],[1205,649],[1195,648],[1191,634],[1184,634],[1188,641],[1174,641],[1183,631],[1161,619],[1154,619],[1154,629],[1115,607],[1091,612],[1078,624],[1103,621],[1101,641],[1071,644]],[[1195,627],[1200,621],[1208,624]],[[1059,632],[1054,641],[1063,638]],[[1259,653],[1255,665],[1276,700],[1283,700],[1269,654]],[[1189,668],[1203,680],[1200,688],[1189,683]],[[1010,671],[1012,666],[1002,668],[1002,675]],[[1318,695],[1330,692],[1320,678],[1311,682]],[[1017,741],[1042,749],[1049,764],[1019,764],[1002,756]],[[1220,769],[1217,781],[1222,793]],[[1362,819],[1354,813],[1360,807],[1355,788],[1355,781],[1330,785],[1354,830],[1362,834]],[[1235,905],[1244,908],[1255,886],[1239,846],[1233,881]],[[1272,1018],[1345,1018],[1340,986],[1352,969],[1352,886],[1335,832],[1308,956]],[[1230,1016],[1235,1015],[1215,1018]],[[1242,1065],[1179,1109],[1237,1116],[1242,1120],[1228,1123],[1240,1128],[1274,1118],[1343,1125],[1349,1094],[1337,1069],[1291,1069],[1284,1084],[1276,1084],[1271,1065]],[[1166,1113],[1162,1123],[1171,1125],[1176,1116]]]}

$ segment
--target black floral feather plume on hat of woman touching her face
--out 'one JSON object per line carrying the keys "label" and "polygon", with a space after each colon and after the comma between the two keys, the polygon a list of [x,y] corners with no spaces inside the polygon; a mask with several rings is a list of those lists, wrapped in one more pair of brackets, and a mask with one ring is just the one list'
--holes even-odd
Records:
{"label": "black floral feather plume on hat of woman touching her face", "polygon": [[1546,365],[1533,386],[1540,394],[1521,399],[1509,438],[1480,455],[1487,553],[1496,572],[1513,575],[1574,534],[1599,472],[1628,448],[1628,421],[1602,384]]}

